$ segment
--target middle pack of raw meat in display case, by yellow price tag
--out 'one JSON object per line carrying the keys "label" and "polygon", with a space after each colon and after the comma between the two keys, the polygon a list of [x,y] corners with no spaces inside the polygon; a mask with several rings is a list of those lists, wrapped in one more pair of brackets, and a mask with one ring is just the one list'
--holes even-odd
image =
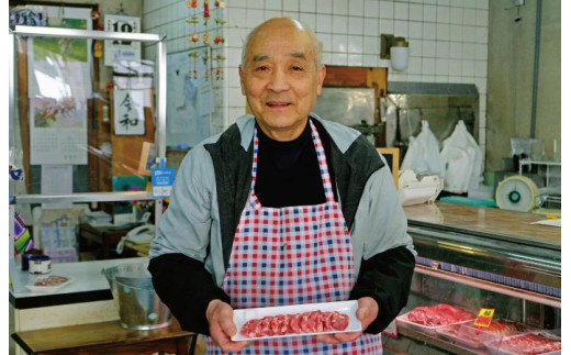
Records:
{"label": "middle pack of raw meat in display case, by yellow price tag", "polygon": [[472,348],[484,348],[485,343],[497,342],[505,336],[530,332],[531,329],[520,323],[496,320],[489,326],[475,325],[473,321],[466,321],[438,329],[436,334],[454,344]]}

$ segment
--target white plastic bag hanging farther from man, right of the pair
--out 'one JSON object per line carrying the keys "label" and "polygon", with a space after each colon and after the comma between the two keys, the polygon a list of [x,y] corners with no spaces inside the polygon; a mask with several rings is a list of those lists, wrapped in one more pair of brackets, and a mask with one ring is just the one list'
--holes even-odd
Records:
{"label": "white plastic bag hanging farther from man, right of the pair", "polygon": [[483,154],[463,121],[458,121],[452,134],[443,142],[440,157],[445,165],[445,191],[463,193],[478,187]]}

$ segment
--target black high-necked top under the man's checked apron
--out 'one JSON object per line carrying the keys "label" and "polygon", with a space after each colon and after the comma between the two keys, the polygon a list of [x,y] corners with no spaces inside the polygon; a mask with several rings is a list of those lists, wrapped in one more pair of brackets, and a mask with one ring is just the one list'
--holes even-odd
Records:
{"label": "black high-necked top under the man's checked apron", "polygon": [[[261,206],[281,208],[324,203],[325,192],[309,121],[303,133],[290,142],[273,141],[257,123],[256,127],[259,147],[255,190]],[[325,141],[323,133],[320,136]],[[331,168],[329,174],[333,175]]]}

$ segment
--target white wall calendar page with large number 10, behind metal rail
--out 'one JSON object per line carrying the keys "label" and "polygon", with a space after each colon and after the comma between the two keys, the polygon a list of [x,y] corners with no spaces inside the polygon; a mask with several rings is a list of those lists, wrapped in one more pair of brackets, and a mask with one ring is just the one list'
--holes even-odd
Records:
{"label": "white wall calendar page with large number 10, behind metal rail", "polygon": [[[123,33],[141,32],[141,18],[107,14],[105,31]],[[105,41],[104,54],[107,66],[113,66],[114,63],[121,60],[139,62],[141,42],[124,40]]]}

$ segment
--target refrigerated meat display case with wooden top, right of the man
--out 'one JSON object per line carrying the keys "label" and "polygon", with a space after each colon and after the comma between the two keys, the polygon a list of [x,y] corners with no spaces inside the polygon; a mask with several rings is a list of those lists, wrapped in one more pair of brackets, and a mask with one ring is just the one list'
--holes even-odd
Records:
{"label": "refrigerated meat display case with wooden top, right of the man", "polygon": [[[513,322],[522,332],[560,335],[560,228],[537,224],[546,218],[533,213],[446,202],[405,207],[405,213],[418,255],[401,315],[440,303],[474,318],[493,309],[493,320]],[[497,341],[461,342],[434,328],[407,325],[396,321],[398,336],[383,336],[384,354],[511,354],[494,348]]]}

